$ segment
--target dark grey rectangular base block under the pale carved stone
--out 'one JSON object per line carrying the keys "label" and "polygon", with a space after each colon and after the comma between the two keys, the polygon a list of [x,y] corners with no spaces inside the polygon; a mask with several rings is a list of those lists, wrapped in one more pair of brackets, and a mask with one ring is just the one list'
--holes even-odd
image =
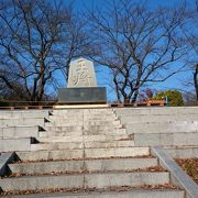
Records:
{"label": "dark grey rectangular base block under the pale carved stone", "polygon": [[107,103],[105,87],[91,88],[61,88],[58,89],[59,103]]}

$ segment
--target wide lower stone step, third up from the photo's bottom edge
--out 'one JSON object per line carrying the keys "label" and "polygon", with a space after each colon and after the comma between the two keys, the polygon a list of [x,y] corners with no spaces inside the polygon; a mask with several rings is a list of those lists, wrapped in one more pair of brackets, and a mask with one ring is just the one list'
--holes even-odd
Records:
{"label": "wide lower stone step, third up from the photo's bottom edge", "polygon": [[47,174],[61,172],[132,170],[157,166],[157,158],[107,158],[94,161],[54,161],[9,164],[12,174]]}

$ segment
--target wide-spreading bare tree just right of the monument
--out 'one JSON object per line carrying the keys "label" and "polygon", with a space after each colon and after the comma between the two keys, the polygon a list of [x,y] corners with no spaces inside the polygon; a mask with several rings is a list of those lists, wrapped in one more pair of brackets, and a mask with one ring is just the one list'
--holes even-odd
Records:
{"label": "wide-spreading bare tree just right of the monument", "polygon": [[164,81],[182,68],[173,67],[186,53],[177,34],[179,11],[122,0],[88,15],[98,47],[92,58],[112,72],[120,102],[134,102],[142,86]]}

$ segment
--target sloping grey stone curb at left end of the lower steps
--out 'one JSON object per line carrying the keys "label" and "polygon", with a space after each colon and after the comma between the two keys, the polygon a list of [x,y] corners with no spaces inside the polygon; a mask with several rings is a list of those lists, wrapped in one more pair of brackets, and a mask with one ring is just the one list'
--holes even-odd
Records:
{"label": "sloping grey stone curb at left end of the lower steps", "polygon": [[9,153],[1,153],[0,154],[0,176],[6,175],[8,170],[8,163],[12,162],[15,160],[15,153],[14,152],[9,152]]}

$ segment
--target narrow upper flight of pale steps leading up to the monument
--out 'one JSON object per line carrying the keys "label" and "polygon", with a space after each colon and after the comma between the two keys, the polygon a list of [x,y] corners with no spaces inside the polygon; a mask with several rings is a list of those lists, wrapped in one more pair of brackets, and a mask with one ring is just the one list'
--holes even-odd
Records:
{"label": "narrow upper flight of pale steps leading up to the monument", "polygon": [[40,144],[32,145],[32,150],[91,148],[97,156],[102,155],[98,148],[110,152],[110,147],[119,151],[134,145],[112,109],[54,110],[52,113],[44,127],[46,131],[40,131]]}

